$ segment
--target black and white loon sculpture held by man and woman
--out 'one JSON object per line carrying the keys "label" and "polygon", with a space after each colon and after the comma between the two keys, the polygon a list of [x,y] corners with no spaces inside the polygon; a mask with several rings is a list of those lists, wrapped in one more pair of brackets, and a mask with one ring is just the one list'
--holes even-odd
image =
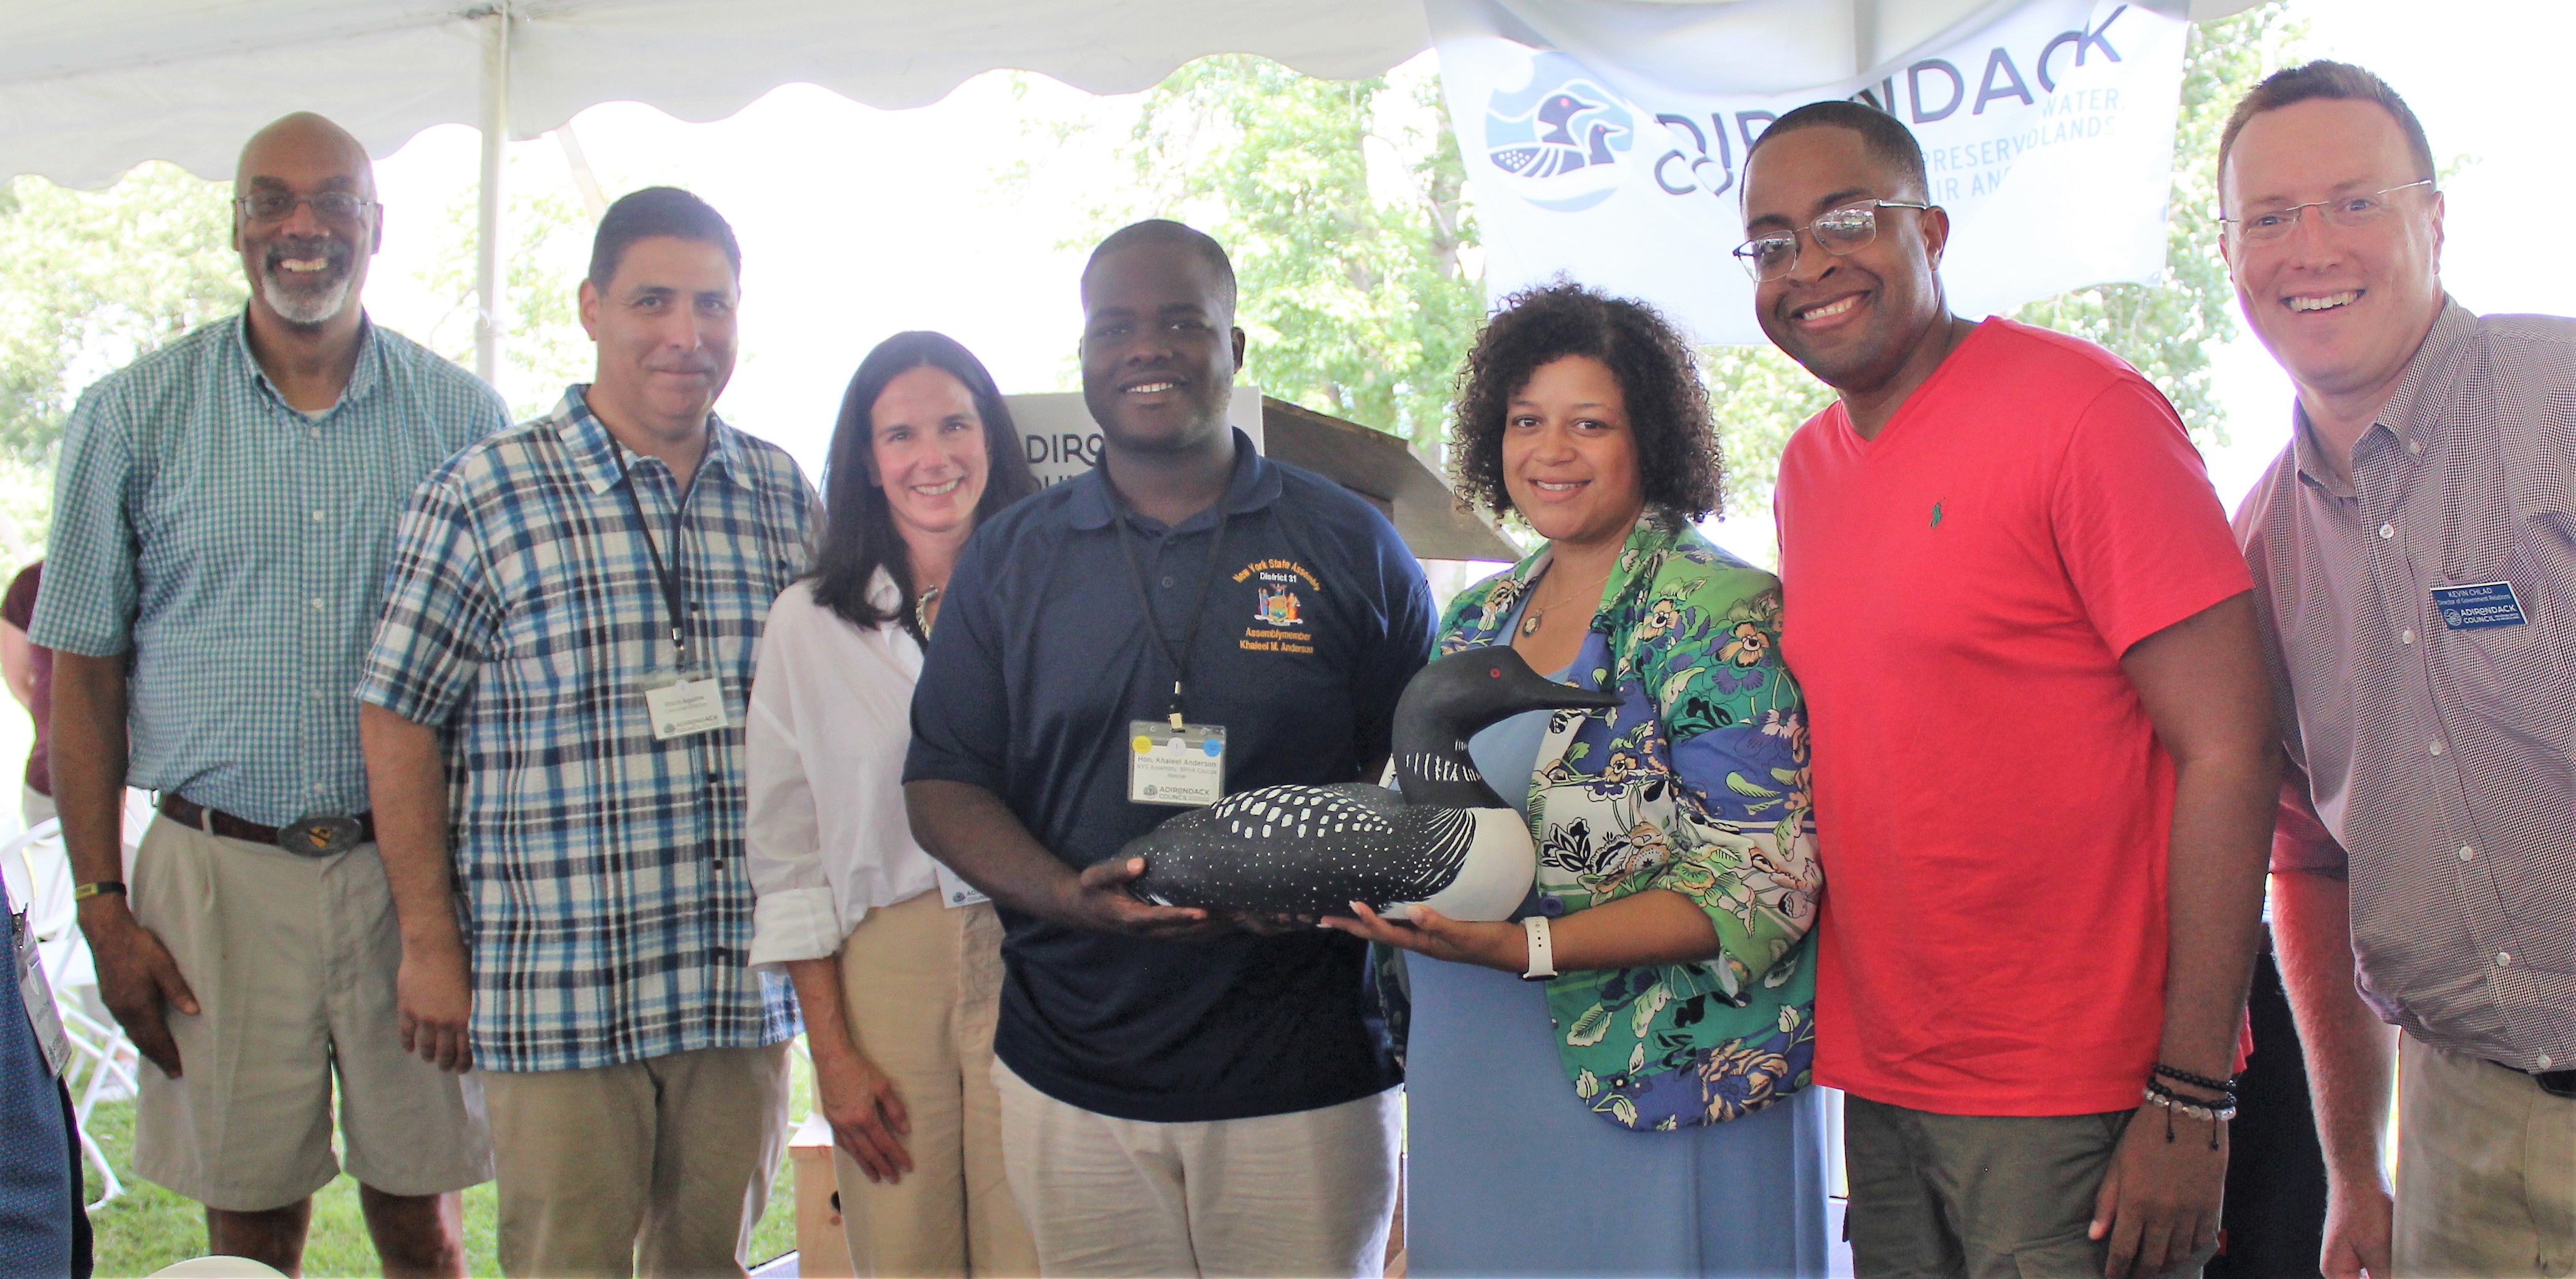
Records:
{"label": "black and white loon sculpture held by man and woman", "polygon": [[1458,921],[1502,921],[1530,895],[1538,848],[1512,805],[1468,761],[1466,740],[1520,712],[1610,709],[1530,670],[1510,647],[1453,652],[1396,701],[1396,799],[1386,786],[1262,786],[1177,812],[1128,841],[1133,892],[1157,905],[1388,918],[1427,905]]}

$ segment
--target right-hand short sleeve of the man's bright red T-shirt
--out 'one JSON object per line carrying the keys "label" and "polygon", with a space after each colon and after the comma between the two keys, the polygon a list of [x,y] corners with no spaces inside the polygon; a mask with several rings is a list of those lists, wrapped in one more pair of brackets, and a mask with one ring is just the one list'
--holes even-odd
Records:
{"label": "right-hand short sleeve of the man's bright red T-shirt", "polygon": [[2115,655],[2254,588],[2182,418],[2141,379],[2120,379],[2084,407],[2058,464],[2050,526],[2076,598]]}

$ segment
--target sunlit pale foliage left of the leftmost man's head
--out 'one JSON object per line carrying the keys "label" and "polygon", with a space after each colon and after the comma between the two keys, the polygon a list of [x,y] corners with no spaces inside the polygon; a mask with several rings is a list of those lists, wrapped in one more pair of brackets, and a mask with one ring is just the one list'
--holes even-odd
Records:
{"label": "sunlit pale foliage left of the leftmost man's head", "polygon": [[44,464],[90,382],[247,299],[227,183],[0,186],[0,456]]}

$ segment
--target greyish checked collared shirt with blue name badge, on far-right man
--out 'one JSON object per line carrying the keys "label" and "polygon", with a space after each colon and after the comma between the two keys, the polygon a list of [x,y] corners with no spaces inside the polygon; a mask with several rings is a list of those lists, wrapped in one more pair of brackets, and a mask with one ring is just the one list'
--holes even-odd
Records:
{"label": "greyish checked collared shirt with blue name badge, on far-right man", "polygon": [[[2272,866],[2349,874],[2383,1019],[2576,1065],[2576,320],[2445,302],[2352,480],[2298,415],[2236,534],[2306,774]],[[2483,583],[2519,624],[2445,619],[2434,591]]]}

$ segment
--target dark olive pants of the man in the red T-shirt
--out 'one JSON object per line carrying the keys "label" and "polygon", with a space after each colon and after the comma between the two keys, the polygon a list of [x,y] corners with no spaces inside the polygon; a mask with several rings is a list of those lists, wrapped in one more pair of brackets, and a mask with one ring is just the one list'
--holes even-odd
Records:
{"label": "dark olive pants of the man in the red T-shirt", "polygon": [[[1932,1114],[1844,1096],[1852,1274],[2099,1276],[2110,1240],[2087,1238],[2094,1191],[2130,1114]],[[2197,1279],[2202,1261],[2161,1279]]]}

